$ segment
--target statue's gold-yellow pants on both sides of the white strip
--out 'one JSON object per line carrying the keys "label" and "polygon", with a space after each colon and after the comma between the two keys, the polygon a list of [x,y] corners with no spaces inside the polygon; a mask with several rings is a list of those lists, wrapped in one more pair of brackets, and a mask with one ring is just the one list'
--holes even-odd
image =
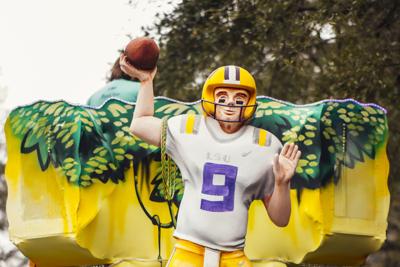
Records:
{"label": "statue's gold-yellow pants on both sides of the white strip", "polygon": [[[186,240],[178,240],[167,267],[203,267],[204,247]],[[221,252],[220,267],[251,267],[242,250]]]}

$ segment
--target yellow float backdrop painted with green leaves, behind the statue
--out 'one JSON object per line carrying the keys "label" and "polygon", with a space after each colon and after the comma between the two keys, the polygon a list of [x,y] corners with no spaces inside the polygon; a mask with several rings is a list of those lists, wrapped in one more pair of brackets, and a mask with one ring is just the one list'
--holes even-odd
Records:
{"label": "yellow float backdrop painted with green leaves, behind the statue", "polygon": [[[350,99],[257,101],[250,124],[296,142],[302,157],[287,227],[274,226],[260,201],[251,205],[248,257],[254,266],[362,263],[386,235],[386,111]],[[38,101],[9,115],[9,231],[38,266],[160,266],[168,259],[183,183],[177,172],[173,197],[164,198],[160,149],[129,131],[134,107],[118,99],[99,108]],[[183,113],[201,114],[199,102],[156,98],[156,117]]]}

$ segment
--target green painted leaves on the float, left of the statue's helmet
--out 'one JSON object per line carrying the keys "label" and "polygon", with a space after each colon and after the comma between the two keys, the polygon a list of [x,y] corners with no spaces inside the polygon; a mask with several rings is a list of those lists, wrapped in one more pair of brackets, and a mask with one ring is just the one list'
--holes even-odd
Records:
{"label": "green painted leaves on the float, left of the statue's helmet", "polygon": [[[21,141],[21,153],[36,153],[43,171],[52,164],[69,182],[87,187],[95,179],[103,183],[124,181],[124,171],[150,155],[155,154],[151,159],[160,161],[158,147],[130,133],[134,107],[117,99],[110,99],[99,108],[39,101],[16,108],[8,119],[12,133]],[[155,100],[155,116],[159,118],[199,112],[198,104],[163,97]],[[152,193],[155,201],[161,201],[163,196],[160,181],[159,173],[152,181],[157,191]],[[181,180],[177,181],[176,190],[175,199],[180,202]]]}

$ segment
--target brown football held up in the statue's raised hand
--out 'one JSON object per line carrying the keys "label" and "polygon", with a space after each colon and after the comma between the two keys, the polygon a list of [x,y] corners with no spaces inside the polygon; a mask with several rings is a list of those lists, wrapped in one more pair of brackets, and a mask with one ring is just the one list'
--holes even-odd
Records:
{"label": "brown football held up in the statue's raised hand", "polygon": [[125,55],[135,68],[153,70],[157,65],[160,48],[153,39],[139,37],[131,40],[125,47]]}

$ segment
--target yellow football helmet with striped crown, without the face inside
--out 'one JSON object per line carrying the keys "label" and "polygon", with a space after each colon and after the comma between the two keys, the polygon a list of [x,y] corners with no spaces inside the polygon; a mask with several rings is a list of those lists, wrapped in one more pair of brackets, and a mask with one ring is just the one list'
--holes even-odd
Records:
{"label": "yellow football helmet with striped crown, without the face inside", "polygon": [[203,111],[214,119],[216,119],[216,105],[224,106],[223,104],[215,103],[214,99],[214,90],[220,87],[246,90],[250,95],[249,102],[245,106],[237,106],[243,109],[239,122],[246,121],[253,116],[257,108],[257,89],[253,76],[247,70],[233,65],[223,66],[214,70],[208,76],[203,85],[201,105],[203,107]]}

